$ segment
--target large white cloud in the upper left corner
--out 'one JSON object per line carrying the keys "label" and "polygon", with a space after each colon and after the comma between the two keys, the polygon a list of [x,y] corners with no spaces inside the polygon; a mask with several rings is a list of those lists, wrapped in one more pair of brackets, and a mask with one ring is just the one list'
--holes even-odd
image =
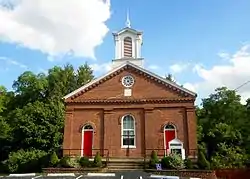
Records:
{"label": "large white cloud in the upper left corner", "polygon": [[110,15],[109,0],[0,0],[0,41],[94,59]]}

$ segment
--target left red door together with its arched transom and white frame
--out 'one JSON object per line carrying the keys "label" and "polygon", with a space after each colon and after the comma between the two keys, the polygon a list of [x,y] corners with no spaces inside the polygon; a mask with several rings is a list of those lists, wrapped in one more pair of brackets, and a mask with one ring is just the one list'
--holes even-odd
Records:
{"label": "left red door together with its arched transom and white frame", "polygon": [[82,145],[82,154],[86,157],[92,156],[92,148],[93,148],[93,134],[94,130],[91,125],[86,125],[83,128],[83,145]]}

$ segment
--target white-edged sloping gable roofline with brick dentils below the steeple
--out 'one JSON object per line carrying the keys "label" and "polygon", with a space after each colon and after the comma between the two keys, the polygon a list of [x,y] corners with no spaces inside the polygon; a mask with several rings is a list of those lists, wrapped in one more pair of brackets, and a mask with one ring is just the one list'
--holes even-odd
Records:
{"label": "white-edged sloping gable roofline with brick dentils below the steeple", "polygon": [[80,92],[83,92],[83,91],[86,91],[87,89],[90,89],[90,88],[93,88],[95,86],[97,86],[97,83],[100,84],[101,82],[105,81],[104,79],[107,79],[108,77],[110,77],[112,74],[114,74],[115,72],[121,70],[121,69],[124,69],[126,67],[132,67],[144,74],[146,74],[147,76],[151,77],[152,79],[155,79],[156,81],[158,81],[159,83],[162,83],[162,84],[165,84],[165,85],[168,85],[169,88],[172,88],[173,90],[175,91],[179,91],[180,93],[184,93],[185,96],[192,96],[192,97],[196,97],[196,93],[186,89],[186,88],[183,88],[181,87],[180,85],[174,83],[174,82],[171,82],[159,75],[156,75],[155,73],[152,73],[144,68],[141,68],[129,61],[126,61],[124,62],[123,64],[121,64],[120,66],[118,66],[117,68],[114,68],[113,70],[109,71],[108,73],[106,73],[105,75],[95,79],[95,80],[92,80],[91,82],[85,84],[84,86],[78,88],[77,90],[69,93],[68,95],[64,96],[63,99],[68,99],[68,98],[72,98],[74,96],[76,96],[78,93]]}

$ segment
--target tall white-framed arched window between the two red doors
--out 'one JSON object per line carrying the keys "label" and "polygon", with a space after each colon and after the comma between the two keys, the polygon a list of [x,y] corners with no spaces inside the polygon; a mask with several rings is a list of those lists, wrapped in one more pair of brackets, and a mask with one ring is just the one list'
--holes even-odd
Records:
{"label": "tall white-framed arched window between the two red doors", "polygon": [[131,115],[122,117],[122,148],[135,148],[135,119]]}

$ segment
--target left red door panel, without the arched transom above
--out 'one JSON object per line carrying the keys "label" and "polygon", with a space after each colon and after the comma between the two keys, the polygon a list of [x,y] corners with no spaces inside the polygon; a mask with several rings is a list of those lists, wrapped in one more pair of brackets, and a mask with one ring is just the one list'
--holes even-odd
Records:
{"label": "left red door panel, without the arched transom above", "polygon": [[83,133],[83,155],[87,157],[92,156],[92,143],[93,142],[93,131],[86,130]]}

